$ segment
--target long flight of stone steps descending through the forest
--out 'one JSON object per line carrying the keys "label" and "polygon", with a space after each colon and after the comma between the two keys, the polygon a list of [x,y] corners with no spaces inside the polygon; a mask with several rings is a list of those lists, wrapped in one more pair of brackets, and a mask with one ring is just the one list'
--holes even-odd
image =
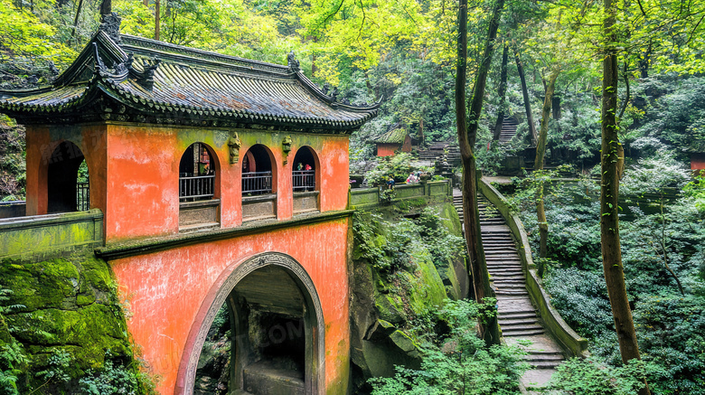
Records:
{"label": "long flight of stone steps descending through the forest", "polygon": [[[459,191],[453,196],[458,215],[463,219],[463,200]],[[522,260],[512,239],[512,233],[502,214],[494,209],[483,196],[478,196],[480,227],[482,230],[484,256],[487,269],[493,280],[497,303],[498,320],[507,343],[519,344],[525,339],[531,345],[520,346],[527,352],[524,356],[532,369],[525,375],[525,386],[542,383],[550,378],[553,369],[563,362],[564,355],[559,345],[550,338],[540,324],[539,316],[531,305],[526,290],[526,277]]]}

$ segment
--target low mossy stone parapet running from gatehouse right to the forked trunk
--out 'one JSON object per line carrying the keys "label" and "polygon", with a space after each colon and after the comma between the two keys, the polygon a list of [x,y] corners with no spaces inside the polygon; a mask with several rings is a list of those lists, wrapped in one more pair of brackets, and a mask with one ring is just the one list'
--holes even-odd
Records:
{"label": "low mossy stone parapet running from gatehouse right to the forked trunk", "polygon": [[[350,208],[377,206],[384,203],[381,193],[385,187],[380,188],[353,188],[348,194]],[[394,195],[390,202],[399,202],[404,199],[426,199],[433,201],[438,198],[447,199],[453,196],[453,187],[450,180],[428,181],[421,183],[402,183],[394,187]]]}

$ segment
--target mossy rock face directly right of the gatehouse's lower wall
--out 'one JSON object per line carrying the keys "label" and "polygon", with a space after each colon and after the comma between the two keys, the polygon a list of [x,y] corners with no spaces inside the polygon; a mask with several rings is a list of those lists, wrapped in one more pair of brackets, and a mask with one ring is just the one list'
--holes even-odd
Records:
{"label": "mossy rock face directly right of the gatehouse's lower wall", "polygon": [[414,323],[448,298],[467,296],[465,249],[453,205],[412,215],[408,209],[385,207],[353,217],[349,273],[356,390],[364,391],[371,377],[392,376],[395,365],[418,368],[422,355]]}

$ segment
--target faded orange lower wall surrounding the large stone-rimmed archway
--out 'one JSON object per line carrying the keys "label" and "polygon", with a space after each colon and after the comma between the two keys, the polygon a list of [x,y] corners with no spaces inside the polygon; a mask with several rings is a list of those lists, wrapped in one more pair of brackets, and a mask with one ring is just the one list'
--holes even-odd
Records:
{"label": "faded orange lower wall surrounding the large stone-rimmed archway", "polygon": [[326,393],[344,394],[350,369],[348,221],[276,230],[111,261],[120,295],[129,302],[130,333],[151,371],[161,377],[159,393],[180,393],[176,376],[187,337],[192,325],[200,327],[194,319],[203,300],[217,292],[211,286],[214,281],[230,274],[239,262],[252,255],[277,251],[296,259],[315,284],[324,312]]}

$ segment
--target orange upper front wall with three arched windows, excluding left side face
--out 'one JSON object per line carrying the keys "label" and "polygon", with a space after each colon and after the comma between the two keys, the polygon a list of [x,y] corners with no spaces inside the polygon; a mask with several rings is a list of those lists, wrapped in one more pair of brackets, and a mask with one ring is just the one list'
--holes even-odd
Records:
{"label": "orange upper front wall with three arched windows, excluding left side face", "polygon": [[[221,199],[221,228],[242,223],[241,159],[255,144],[267,146],[276,177],[277,219],[293,215],[291,171],[299,146],[311,146],[321,166],[321,210],[343,210],[347,205],[348,137],[284,134],[239,129],[240,161],[230,164],[229,131],[189,127],[108,126],[108,243],[178,232],[178,165],[185,149],[195,142],[211,148],[216,161],[216,193]],[[291,136],[285,156],[281,141]],[[284,162],[287,161],[285,165]]]}

